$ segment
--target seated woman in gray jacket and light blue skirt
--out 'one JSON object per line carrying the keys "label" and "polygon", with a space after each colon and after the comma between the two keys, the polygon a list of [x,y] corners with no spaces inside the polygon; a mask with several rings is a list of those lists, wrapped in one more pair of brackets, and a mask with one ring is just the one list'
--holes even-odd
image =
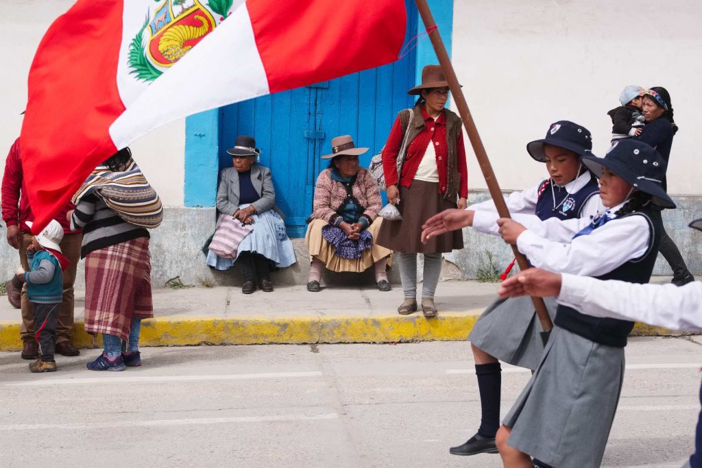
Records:
{"label": "seated woman in gray jacket and light blue skirt", "polygon": [[231,237],[229,241],[238,242],[238,245],[233,255],[221,256],[213,252],[210,244],[207,265],[225,270],[236,263],[244,276],[242,293],[253,293],[257,280],[261,290],[269,293],[273,290],[271,267],[289,267],[296,262],[293,243],[286,234],[283,213],[275,206],[270,169],[256,164],[256,157],[260,154],[256,140],[240,135],[227,153],[232,155],[234,167],[220,173],[217,189],[220,219],[217,225],[220,231],[223,217],[232,217],[235,222],[226,235]]}

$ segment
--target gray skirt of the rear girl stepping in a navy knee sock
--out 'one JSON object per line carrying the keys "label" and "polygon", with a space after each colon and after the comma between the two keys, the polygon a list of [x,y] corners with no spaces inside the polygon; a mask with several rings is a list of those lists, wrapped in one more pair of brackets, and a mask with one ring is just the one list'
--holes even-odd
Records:
{"label": "gray skirt of the rear girl stepping in a navy knee sock", "polygon": [[[553,320],[556,301],[546,297],[544,302]],[[498,299],[485,309],[468,340],[500,361],[536,370],[543,354],[541,331],[531,297],[510,297]]]}

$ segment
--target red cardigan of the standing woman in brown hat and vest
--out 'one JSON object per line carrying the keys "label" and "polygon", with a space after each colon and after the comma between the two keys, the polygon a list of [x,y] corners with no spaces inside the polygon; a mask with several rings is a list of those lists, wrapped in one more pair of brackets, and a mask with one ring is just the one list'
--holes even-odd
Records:
{"label": "red cardigan of the standing woman in brown hat and vest", "polygon": [[[439,172],[439,193],[446,192],[446,156],[449,154],[449,148],[446,143],[446,114],[442,112],[437,117],[435,122],[424,107],[422,107],[422,116],[424,118],[425,127],[414,140],[408,145],[407,154],[402,163],[402,173],[400,174],[399,185],[409,187],[414,180],[414,175],[417,173],[419,163],[422,161],[424,153],[427,151],[429,142],[435,145],[437,154],[437,170]],[[395,124],[392,126],[388,141],[385,142],[383,149],[383,172],[385,173],[385,183],[390,185],[397,184],[397,153],[402,146],[402,123],[399,116],[395,119]],[[461,182],[458,184],[458,196],[460,198],[468,198],[468,165],[465,161],[465,146],[463,145],[463,131],[458,134],[456,140],[456,168],[458,174],[461,175]]]}

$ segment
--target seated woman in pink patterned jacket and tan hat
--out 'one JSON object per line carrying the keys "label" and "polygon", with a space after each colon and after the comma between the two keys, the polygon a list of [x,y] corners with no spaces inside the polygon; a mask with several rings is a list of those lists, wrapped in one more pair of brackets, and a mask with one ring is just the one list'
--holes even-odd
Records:
{"label": "seated woman in pink patterned jacket and tan hat", "polygon": [[355,147],[350,135],[333,138],[331,147],[332,153],[322,156],[331,163],[317,178],[305,234],[311,262],[307,290],[320,290],[324,267],[333,272],[364,272],[375,265],[378,289],[389,291],[385,268],[392,250],[375,242],[382,222],[380,189],[358,165],[359,154],[368,148]]}

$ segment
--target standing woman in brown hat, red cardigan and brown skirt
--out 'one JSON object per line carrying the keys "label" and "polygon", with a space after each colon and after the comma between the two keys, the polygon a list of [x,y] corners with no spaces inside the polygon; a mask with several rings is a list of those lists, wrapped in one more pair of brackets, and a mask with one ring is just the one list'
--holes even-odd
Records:
{"label": "standing woman in brown hat, red cardigan and brown skirt", "polygon": [[443,210],[465,208],[468,168],[461,118],[446,109],[449,83],[441,67],[424,67],[422,83],[407,93],[420,97],[412,109],[399,113],[383,149],[388,201],[397,204],[402,220],[383,223],[378,243],[399,252],[404,302],[397,312],[402,315],[417,310],[417,254],[423,253],[422,312],[435,317],[442,253],[463,248],[463,234],[449,232],[422,243],[421,226]]}

